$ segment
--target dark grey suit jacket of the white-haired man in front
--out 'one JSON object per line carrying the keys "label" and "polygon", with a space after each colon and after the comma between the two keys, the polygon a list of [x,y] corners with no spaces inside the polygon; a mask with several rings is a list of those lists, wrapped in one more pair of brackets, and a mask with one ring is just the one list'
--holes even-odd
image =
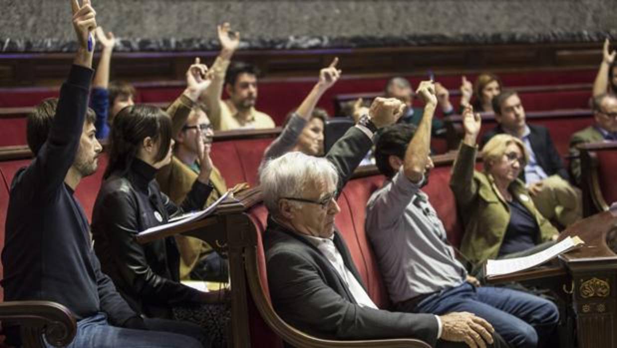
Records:
{"label": "dark grey suit jacket of the white-haired man in front", "polygon": [[[372,141],[350,128],[326,155],[339,174],[339,191]],[[360,284],[362,279],[338,231],[334,244]],[[394,313],[361,307],[344,281],[309,241],[268,219],[264,236],[268,285],[278,315],[297,329],[325,339],[416,338],[434,346],[437,320],[431,314]]]}

